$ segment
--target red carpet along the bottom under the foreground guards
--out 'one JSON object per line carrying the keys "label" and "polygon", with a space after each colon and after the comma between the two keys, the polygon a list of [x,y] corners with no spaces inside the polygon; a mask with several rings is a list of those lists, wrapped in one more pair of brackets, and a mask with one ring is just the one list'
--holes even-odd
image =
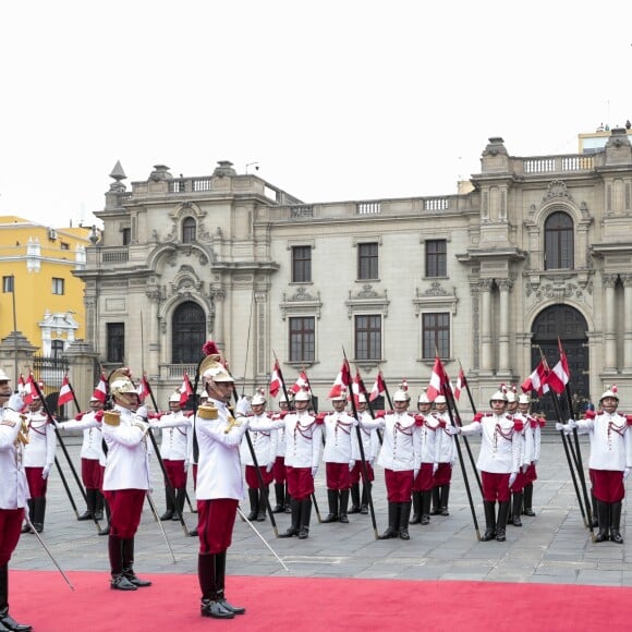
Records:
{"label": "red carpet along the bottom under the foreground guards", "polygon": [[195,575],[141,573],[154,586],[134,593],[111,591],[106,573],[66,575],[74,592],[57,572],[10,570],[11,615],[36,632],[632,629],[632,588],[622,587],[230,576],[227,596],[247,612],[219,621],[199,616]]}

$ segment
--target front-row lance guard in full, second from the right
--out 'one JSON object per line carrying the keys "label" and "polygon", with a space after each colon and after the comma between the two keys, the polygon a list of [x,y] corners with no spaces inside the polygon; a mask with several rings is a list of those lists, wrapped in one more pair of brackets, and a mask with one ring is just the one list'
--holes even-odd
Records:
{"label": "front-row lance guard in full, second from the right", "polygon": [[[515,482],[520,467],[522,448],[522,421],[507,414],[507,394],[496,391],[489,400],[490,413],[477,413],[466,426],[449,426],[455,434],[482,435],[481,452],[476,467],[481,471],[483,484],[483,506],[485,508],[485,534],[481,538],[488,542],[507,539],[510,487]],[[498,520],[496,518],[498,502]]]}

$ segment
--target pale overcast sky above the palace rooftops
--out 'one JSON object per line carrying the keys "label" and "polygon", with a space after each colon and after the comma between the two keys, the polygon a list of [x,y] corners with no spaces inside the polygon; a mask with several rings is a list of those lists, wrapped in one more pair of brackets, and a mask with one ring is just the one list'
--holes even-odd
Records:
{"label": "pale overcast sky above the palace rooftops", "polygon": [[[218,160],[304,202],[455,193],[490,136],[632,119],[628,4],[35,0],[0,13],[0,215],[93,223],[117,160]],[[251,165],[248,170],[252,171]]]}

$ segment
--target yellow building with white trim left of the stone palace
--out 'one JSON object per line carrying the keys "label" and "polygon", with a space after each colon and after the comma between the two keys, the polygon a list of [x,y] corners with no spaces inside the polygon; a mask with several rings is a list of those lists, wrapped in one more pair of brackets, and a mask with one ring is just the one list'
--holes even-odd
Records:
{"label": "yellow building with white trim left of the stone palace", "polygon": [[84,338],[84,282],[73,270],[85,267],[90,233],[0,216],[0,340],[16,329],[38,355],[59,357]]}

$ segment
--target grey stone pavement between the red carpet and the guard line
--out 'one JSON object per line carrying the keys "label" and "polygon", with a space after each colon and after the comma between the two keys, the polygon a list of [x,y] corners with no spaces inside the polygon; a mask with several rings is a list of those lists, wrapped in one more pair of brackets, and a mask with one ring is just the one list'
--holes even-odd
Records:
{"label": "grey stone pavement between the red carpet and the guard line", "polygon": [[[80,437],[66,437],[64,441],[80,472]],[[581,441],[585,464],[588,457],[587,440],[581,437]],[[470,438],[470,446],[476,458],[478,438]],[[467,458],[465,450],[463,455]],[[81,513],[84,503],[65,457],[59,448],[58,460]],[[165,494],[156,462],[154,471],[154,500],[158,513],[162,513]],[[479,533],[483,534],[483,506],[469,463],[467,476]],[[191,479],[189,495],[194,502]],[[317,476],[316,498],[325,516],[327,493],[324,466]],[[533,505],[537,515],[523,516],[522,527],[509,525],[506,543],[477,540],[463,477],[457,466],[450,495],[450,516],[433,516],[428,526],[411,525],[409,542],[376,540],[369,515],[350,515],[349,524],[318,524],[313,512],[309,538],[305,540],[295,537],[276,539],[269,521],[255,522],[254,526],[288,567],[289,571],[285,571],[251,526],[238,518],[228,556],[228,572],[236,575],[293,574],[313,578],[477,580],[630,586],[632,528],[625,528],[627,500],[621,525],[625,544],[592,543],[579,509],[560,439],[556,435],[545,436],[538,463],[538,481],[534,484]],[[387,503],[384,472],[379,467],[376,471],[374,503],[378,533],[381,533],[387,526]],[[244,501],[242,508],[247,514],[247,501]],[[275,514],[275,518],[279,533],[284,532],[290,516],[282,513]],[[185,508],[184,520],[193,527],[196,515]],[[179,522],[161,524],[177,561],[173,562],[160,527],[146,505],[136,534],[135,569],[138,574],[196,573],[197,538],[185,537]],[[76,521],[56,471],[49,483],[46,524],[41,537],[64,571],[95,570],[108,573],[107,537],[96,534],[93,522]],[[10,567],[56,570],[36,537],[31,534],[21,537]]]}

